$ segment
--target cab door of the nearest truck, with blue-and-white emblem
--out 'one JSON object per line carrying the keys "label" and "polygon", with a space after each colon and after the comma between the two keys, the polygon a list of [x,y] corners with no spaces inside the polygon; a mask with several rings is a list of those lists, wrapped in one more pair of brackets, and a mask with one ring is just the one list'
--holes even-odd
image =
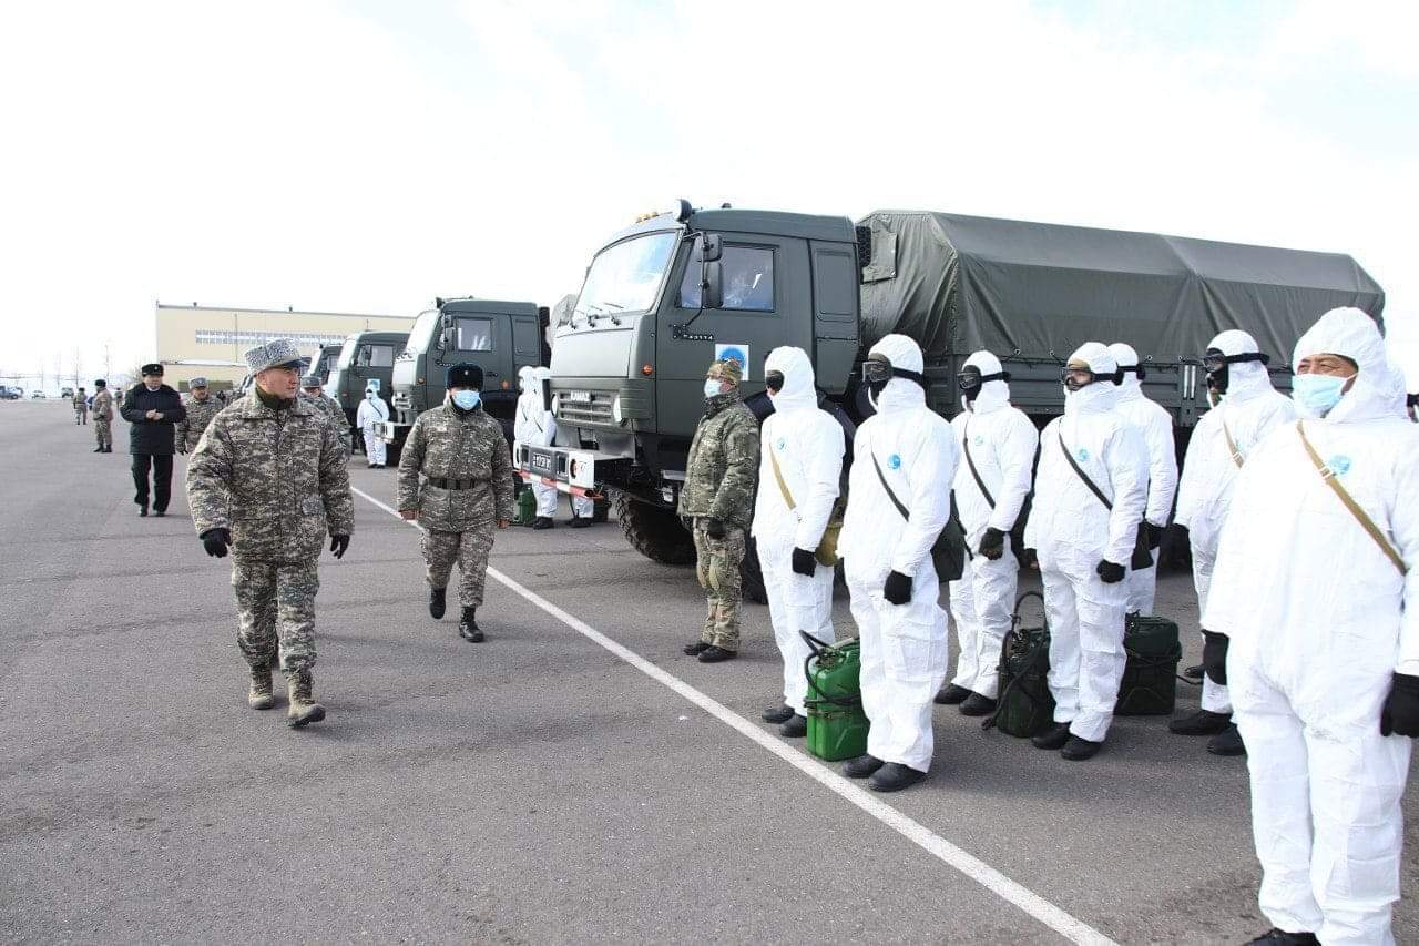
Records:
{"label": "cab door of the nearest truck, with blue-and-white emblem", "polygon": [[[656,415],[687,439],[704,413],[710,362],[736,358],[745,396],[763,391],[763,359],[779,345],[813,352],[813,293],[805,240],[725,233],[724,308],[700,310],[698,244],[681,250],[656,331]],[[677,330],[678,327],[678,330]]]}

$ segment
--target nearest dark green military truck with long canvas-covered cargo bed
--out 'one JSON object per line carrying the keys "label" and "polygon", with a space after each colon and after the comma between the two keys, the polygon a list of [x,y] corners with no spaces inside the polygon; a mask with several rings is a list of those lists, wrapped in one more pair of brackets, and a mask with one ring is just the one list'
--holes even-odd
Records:
{"label": "nearest dark green military truck with long canvas-covered cargo bed", "polygon": [[674,506],[715,358],[744,364],[742,389],[763,418],[765,357],[803,348],[822,402],[857,423],[871,413],[860,365],[883,335],[921,344],[928,403],[948,418],[961,409],[961,364],[986,348],[1043,426],[1063,412],[1060,366],[1074,348],[1127,341],[1185,440],[1206,409],[1198,359],[1216,332],[1250,331],[1284,374],[1300,334],[1335,305],[1376,320],[1384,308],[1379,286],[1341,254],[925,212],[854,224],[681,200],[592,260],[552,347],[559,440],[519,446],[517,464],[565,491],[610,493],[639,551],[688,562]]}

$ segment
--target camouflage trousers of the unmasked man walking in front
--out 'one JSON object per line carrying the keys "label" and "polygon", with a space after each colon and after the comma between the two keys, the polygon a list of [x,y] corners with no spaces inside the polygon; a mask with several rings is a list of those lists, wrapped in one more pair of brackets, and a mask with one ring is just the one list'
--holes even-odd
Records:
{"label": "camouflage trousers of the unmasked man walking in front", "polygon": [[315,666],[315,592],[321,589],[316,560],[233,560],[231,588],[237,595],[237,646],[255,669],[270,666],[281,636],[281,669],[287,673]]}

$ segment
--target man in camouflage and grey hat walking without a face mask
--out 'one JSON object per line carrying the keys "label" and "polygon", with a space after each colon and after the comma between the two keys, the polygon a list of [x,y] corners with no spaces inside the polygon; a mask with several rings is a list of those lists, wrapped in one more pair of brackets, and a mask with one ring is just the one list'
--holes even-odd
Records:
{"label": "man in camouflage and grey hat walking without a face mask", "polygon": [[187,464],[187,501],[209,555],[231,551],[237,646],[247,659],[251,709],[271,709],[271,656],[287,676],[292,727],[325,719],[312,695],[315,592],[326,533],[336,558],[355,528],[349,473],[335,428],[298,384],[305,366],[295,342],[277,339],[245,354],[251,392],[223,411]]}

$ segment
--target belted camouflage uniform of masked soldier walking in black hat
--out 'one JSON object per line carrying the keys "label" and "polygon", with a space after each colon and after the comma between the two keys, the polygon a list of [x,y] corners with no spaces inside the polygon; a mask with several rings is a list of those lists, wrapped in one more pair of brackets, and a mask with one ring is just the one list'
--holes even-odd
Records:
{"label": "belted camouflage uniform of masked soldier walking in black hat", "polygon": [[[446,489],[448,480],[465,487]],[[502,425],[482,408],[460,416],[451,403],[419,415],[399,459],[399,509],[419,510],[429,585],[446,588],[457,561],[460,604],[481,607],[494,527],[512,518],[512,457]]]}

